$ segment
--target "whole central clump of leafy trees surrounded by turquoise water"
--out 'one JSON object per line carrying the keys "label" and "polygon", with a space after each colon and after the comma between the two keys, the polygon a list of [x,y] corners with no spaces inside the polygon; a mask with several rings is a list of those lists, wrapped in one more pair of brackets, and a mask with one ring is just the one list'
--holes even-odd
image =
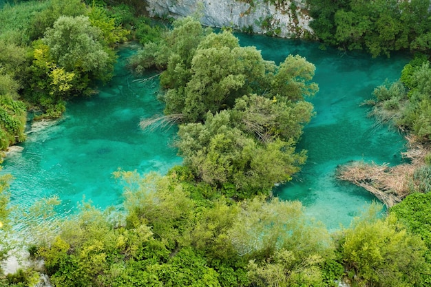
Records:
{"label": "whole central clump of leafy trees surrounded by turquoise water", "polygon": [[196,180],[249,198],[291,180],[304,163],[295,144],[313,116],[305,99],[318,87],[315,66],[303,57],[276,65],[255,47],[240,47],[231,32],[210,33],[189,17],[132,62],[165,67],[160,98],[165,114],[181,120],[176,146]]}

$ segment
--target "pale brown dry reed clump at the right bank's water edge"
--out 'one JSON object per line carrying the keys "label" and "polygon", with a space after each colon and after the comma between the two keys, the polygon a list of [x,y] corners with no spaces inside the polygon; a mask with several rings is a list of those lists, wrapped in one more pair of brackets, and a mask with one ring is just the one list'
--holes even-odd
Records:
{"label": "pale brown dry reed clump at the right bank's water edge", "polygon": [[338,178],[348,180],[374,194],[386,206],[391,207],[405,198],[414,189],[414,171],[425,165],[425,156],[430,151],[415,138],[406,137],[408,151],[402,153],[410,163],[389,167],[387,163],[353,162],[339,167]]}

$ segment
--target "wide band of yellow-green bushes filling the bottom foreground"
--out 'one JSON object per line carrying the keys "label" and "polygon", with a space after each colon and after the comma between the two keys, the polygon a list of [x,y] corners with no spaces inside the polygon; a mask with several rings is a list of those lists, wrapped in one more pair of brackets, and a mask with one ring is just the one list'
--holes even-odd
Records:
{"label": "wide band of yellow-green bushes filling the bottom foreground", "polygon": [[427,286],[425,245],[395,217],[377,219],[376,206],[331,237],[299,202],[193,200],[184,167],[115,175],[125,214],[84,204],[39,246],[56,286],[323,287],[346,274],[357,286]]}

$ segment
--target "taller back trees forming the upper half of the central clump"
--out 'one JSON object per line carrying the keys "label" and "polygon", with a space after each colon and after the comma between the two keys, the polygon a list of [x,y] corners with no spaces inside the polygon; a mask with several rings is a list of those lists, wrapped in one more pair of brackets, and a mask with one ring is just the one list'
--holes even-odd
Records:
{"label": "taller back trees forming the upper half of the central clump", "polygon": [[277,67],[264,61],[255,47],[239,47],[238,39],[227,31],[202,39],[190,67],[178,65],[177,57],[171,56],[161,78],[162,84],[171,83],[165,86],[165,113],[182,114],[187,123],[204,120],[207,111],[232,108],[247,94],[297,102],[318,90],[315,83],[308,83],[315,67],[304,58],[288,56]]}

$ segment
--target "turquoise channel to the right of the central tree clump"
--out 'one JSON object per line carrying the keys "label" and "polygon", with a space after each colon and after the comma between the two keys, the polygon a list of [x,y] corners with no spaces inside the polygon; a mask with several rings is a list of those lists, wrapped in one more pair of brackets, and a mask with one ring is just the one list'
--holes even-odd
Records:
{"label": "turquoise channel to the right of the central tree clump", "polygon": [[385,78],[395,81],[408,62],[406,55],[390,59],[362,53],[319,50],[319,44],[283,41],[262,36],[240,37],[241,45],[255,45],[264,59],[280,63],[288,54],[299,54],[315,64],[313,81],[319,92],[310,101],[317,115],[304,129],[298,149],[308,150],[308,160],[294,180],[275,191],[284,200],[300,200],[306,213],[328,228],[348,226],[375,200],[368,191],[335,178],[337,165],[351,160],[399,164],[405,150],[403,136],[388,127],[377,127],[367,118],[370,107],[360,107]]}

